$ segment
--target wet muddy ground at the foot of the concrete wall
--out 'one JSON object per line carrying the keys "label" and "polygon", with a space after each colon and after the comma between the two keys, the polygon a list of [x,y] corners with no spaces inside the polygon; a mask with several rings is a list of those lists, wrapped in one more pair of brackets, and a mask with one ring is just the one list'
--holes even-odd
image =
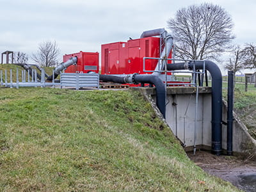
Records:
{"label": "wet muddy ground at the foot of the concrete wall", "polygon": [[214,156],[209,152],[187,153],[205,172],[231,182],[244,191],[256,191],[256,161],[234,156]]}

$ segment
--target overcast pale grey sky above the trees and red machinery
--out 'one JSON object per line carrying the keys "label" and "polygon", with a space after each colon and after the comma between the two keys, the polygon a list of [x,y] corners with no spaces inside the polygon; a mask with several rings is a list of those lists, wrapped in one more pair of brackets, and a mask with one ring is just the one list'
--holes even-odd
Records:
{"label": "overcast pale grey sky above the trees and red machinery", "polygon": [[38,44],[56,40],[61,56],[100,52],[100,45],[139,38],[148,29],[166,28],[180,8],[220,4],[235,24],[234,44],[256,42],[255,0],[1,0],[0,52],[31,55]]}

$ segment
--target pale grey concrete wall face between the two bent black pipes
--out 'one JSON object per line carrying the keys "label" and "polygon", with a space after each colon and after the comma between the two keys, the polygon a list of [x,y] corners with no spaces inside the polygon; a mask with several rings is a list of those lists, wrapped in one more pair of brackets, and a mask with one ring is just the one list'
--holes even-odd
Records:
{"label": "pale grey concrete wall face between the two bent black pipes", "polygon": [[173,134],[186,146],[193,146],[194,139],[196,145],[211,146],[211,93],[198,95],[196,121],[195,93],[168,95],[167,100],[166,122]]}

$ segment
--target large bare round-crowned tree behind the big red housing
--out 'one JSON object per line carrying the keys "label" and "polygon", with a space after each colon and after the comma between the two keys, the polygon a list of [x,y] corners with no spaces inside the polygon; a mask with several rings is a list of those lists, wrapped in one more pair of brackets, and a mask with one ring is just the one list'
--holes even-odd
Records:
{"label": "large bare round-crowned tree behind the big red housing", "polygon": [[175,39],[176,56],[190,60],[217,60],[230,49],[234,24],[221,6],[211,3],[192,5],[177,11],[168,20]]}

